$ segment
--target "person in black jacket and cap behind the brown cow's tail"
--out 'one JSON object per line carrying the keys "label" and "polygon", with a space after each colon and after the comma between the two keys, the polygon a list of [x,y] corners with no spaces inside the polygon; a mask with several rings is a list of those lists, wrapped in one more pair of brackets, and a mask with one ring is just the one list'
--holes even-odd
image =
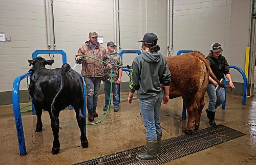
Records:
{"label": "person in black jacket and cap behind the brown cow's tail", "polygon": [[[224,79],[224,74],[229,80],[229,86],[231,88],[235,88],[231,79],[231,75],[229,73],[229,65],[224,56],[222,56],[221,52],[223,49],[221,48],[221,44],[213,43],[210,47],[209,55],[206,59],[209,61],[210,68],[212,72],[216,75],[216,77],[221,80]],[[225,101],[225,92],[224,88],[216,86],[218,83],[209,76],[209,85],[207,87],[207,94],[209,96],[209,105],[206,109],[207,117],[209,119],[209,124],[211,127],[217,127],[215,123],[215,112],[216,108],[221,105]]]}

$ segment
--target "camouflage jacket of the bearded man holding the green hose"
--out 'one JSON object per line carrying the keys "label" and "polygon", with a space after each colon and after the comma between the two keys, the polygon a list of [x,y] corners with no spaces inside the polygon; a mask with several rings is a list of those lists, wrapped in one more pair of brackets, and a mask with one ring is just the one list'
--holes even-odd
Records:
{"label": "camouflage jacket of the bearded man holding the green hose", "polygon": [[[76,56],[90,56],[106,63],[110,63],[108,56],[106,56],[106,49],[97,43],[95,49],[89,46],[89,41],[84,43],[77,51]],[[104,64],[100,61],[89,57],[83,57],[82,61],[82,71],[81,74],[84,77],[102,77],[104,75]]]}

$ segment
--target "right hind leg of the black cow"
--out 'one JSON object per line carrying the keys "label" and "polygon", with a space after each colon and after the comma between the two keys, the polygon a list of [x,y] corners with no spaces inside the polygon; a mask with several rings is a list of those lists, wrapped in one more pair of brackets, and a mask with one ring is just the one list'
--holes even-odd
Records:
{"label": "right hind leg of the black cow", "polygon": [[75,112],[76,112],[76,120],[78,123],[78,126],[80,128],[80,132],[81,132],[81,136],[80,136],[80,140],[81,140],[81,146],[82,148],[87,148],[89,146],[87,137],[86,137],[86,132],[84,132],[84,126],[86,124],[83,115],[82,115],[82,109],[78,108],[78,107],[74,107],[75,108]]}

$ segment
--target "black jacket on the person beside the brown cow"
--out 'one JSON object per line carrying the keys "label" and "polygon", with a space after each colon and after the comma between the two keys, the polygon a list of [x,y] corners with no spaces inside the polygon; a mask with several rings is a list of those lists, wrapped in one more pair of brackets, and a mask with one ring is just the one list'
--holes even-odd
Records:
{"label": "black jacket on the person beside the brown cow", "polygon": [[[210,68],[219,80],[221,80],[221,78],[224,79],[224,74],[226,75],[229,73],[229,65],[226,58],[222,56],[222,54],[220,54],[218,59],[216,59],[212,53],[209,53],[206,59],[209,60]],[[211,82],[209,81],[209,83]]]}

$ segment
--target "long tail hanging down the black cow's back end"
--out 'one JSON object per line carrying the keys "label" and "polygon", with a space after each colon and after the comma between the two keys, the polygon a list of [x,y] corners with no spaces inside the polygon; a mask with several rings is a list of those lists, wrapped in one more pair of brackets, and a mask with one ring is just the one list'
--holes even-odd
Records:
{"label": "long tail hanging down the black cow's back end", "polygon": [[[56,95],[54,96],[53,100],[52,100],[52,103],[51,103],[51,115],[52,115],[52,118],[53,118],[53,124],[56,126],[56,127],[59,127],[59,125],[57,124],[57,120],[56,120],[56,117],[55,117],[55,102],[56,102],[56,99],[58,98],[59,94],[61,93],[63,87],[64,87],[64,84],[65,84],[65,76],[66,76],[66,72],[68,69],[70,69],[70,65],[69,64],[63,64],[62,67],[61,67],[61,75],[60,75],[60,86],[59,86],[59,90],[58,92],[56,93]],[[60,127],[59,127],[60,128]],[[61,129],[61,128],[60,128]]]}

